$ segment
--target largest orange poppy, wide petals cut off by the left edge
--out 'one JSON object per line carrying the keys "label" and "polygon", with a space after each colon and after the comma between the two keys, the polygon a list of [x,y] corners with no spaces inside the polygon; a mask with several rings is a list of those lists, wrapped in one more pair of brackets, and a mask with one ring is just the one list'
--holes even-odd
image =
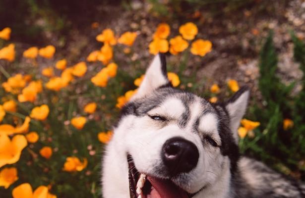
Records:
{"label": "largest orange poppy, wide petals cut off by the left edge", "polygon": [[6,134],[0,134],[0,167],[16,163],[26,146],[27,141],[23,135],[16,135],[10,140]]}

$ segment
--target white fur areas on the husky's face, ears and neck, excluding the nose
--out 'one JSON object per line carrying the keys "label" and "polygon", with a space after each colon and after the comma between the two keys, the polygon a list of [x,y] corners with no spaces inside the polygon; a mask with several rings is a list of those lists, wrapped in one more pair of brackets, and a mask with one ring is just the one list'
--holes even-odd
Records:
{"label": "white fur areas on the husky's face, ears and neck, excluding the nose", "polygon": [[[161,61],[157,55],[148,68],[145,78],[131,101],[149,99],[154,91],[169,82],[162,74]],[[220,145],[222,143],[218,131],[218,118],[214,113],[207,113],[199,120],[199,133],[192,132],[192,124],[195,122],[207,106],[203,99],[194,96],[189,107],[188,124],[181,128],[176,122],[185,111],[182,100],[184,93],[173,94],[163,99],[157,107],[147,112],[148,115],[125,115],[114,129],[114,136],[106,148],[103,161],[103,196],[104,198],[129,198],[128,165],[126,153],[131,154],[136,169],[140,173],[146,173],[155,177],[169,179],[156,171],[161,163],[161,149],[164,143],[173,137],[182,137],[192,142],[199,151],[197,165],[188,173],[181,173],[178,177],[171,178],[177,186],[188,193],[197,193],[194,198],[233,198],[239,197],[232,187],[232,174],[230,159],[223,155],[219,147],[213,147],[204,142],[204,136],[208,135]],[[234,141],[238,143],[237,129],[240,120],[244,116],[249,97],[249,91],[245,91],[238,99],[229,102],[226,110],[230,115],[230,128]],[[170,118],[166,125],[151,119],[149,115],[164,115]],[[260,187],[263,179],[255,171],[246,171],[246,165],[250,163],[247,158],[239,162],[241,173],[250,187]],[[204,189],[202,189],[204,187]],[[254,197],[254,196],[253,196]]]}

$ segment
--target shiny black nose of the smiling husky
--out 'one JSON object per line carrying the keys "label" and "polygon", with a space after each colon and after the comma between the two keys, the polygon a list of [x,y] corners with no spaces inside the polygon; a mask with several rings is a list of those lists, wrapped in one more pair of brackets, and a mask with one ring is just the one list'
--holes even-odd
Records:
{"label": "shiny black nose of the smiling husky", "polygon": [[197,165],[199,151],[193,143],[175,137],[165,142],[161,155],[170,175],[174,176],[192,170]]}

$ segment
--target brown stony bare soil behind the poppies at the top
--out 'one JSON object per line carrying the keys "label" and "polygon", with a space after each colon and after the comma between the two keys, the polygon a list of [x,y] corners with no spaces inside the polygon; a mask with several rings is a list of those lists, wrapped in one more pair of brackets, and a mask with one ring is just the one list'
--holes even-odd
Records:
{"label": "brown stony bare soil behind the poppies at the top", "polygon": [[[198,38],[208,39],[213,43],[213,51],[204,57],[191,57],[185,74],[196,72],[197,81],[205,80],[208,89],[212,83],[225,87],[228,79],[237,79],[241,85],[247,84],[252,88],[253,95],[260,98],[257,92],[257,78],[259,76],[258,58],[259,49],[270,29],[274,31],[274,42],[279,53],[278,75],[285,83],[300,80],[302,72],[299,65],[293,62],[293,45],[290,30],[294,30],[301,39],[305,38],[305,0],[268,0],[250,4],[237,10],[215,11],[207,5],[200,10],[196,19],[160,19],[148,10],[150,5],[140,0],[132,0],[129,9],[120,6],[120,3],[106,4],[96,9],[92,22],[98,22],[97,29],[91,29],[91,24],[82,24],[83,28],[75,26],[68,33],[68,40],[62,49],[71,60],[84,60],[91,51],[99,49],[100,44],[95,37],[105,28],[112,28],[117,34],[125,31],[139,31],[134,46],[132,60],[141,60],[140,67],[145,68],[152,55],[148,52],[157,25],[168,22],[172,32],[178,34],[178,27],[186,21],[195,21],[198,25]],[[84,16],[85,17],[85,16]],[[47,33],[46,33],[47,34]],[[54,43],[60,40],[46,35]],[[77,59],[77,60],[76,60]],[[116,53],[121,68],[130,70],[126,56]],[[170,61],[179,61],[170,56]],[[126,64],[124,64],[126,63]],[[199,67],[194,65],[199,63]],[[301,89],[296,86],[295,92]]]}

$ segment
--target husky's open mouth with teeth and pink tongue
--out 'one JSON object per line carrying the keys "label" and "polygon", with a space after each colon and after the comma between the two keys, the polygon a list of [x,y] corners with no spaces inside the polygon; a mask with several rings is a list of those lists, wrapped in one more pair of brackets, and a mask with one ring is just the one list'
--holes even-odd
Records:
{"label": "husky's open mouth with teeth and pink tongue", "polygon": [[189,194],[169,179],[160,179],[135,168],[132,156],[127,154],[130,198],[189,198]]}

